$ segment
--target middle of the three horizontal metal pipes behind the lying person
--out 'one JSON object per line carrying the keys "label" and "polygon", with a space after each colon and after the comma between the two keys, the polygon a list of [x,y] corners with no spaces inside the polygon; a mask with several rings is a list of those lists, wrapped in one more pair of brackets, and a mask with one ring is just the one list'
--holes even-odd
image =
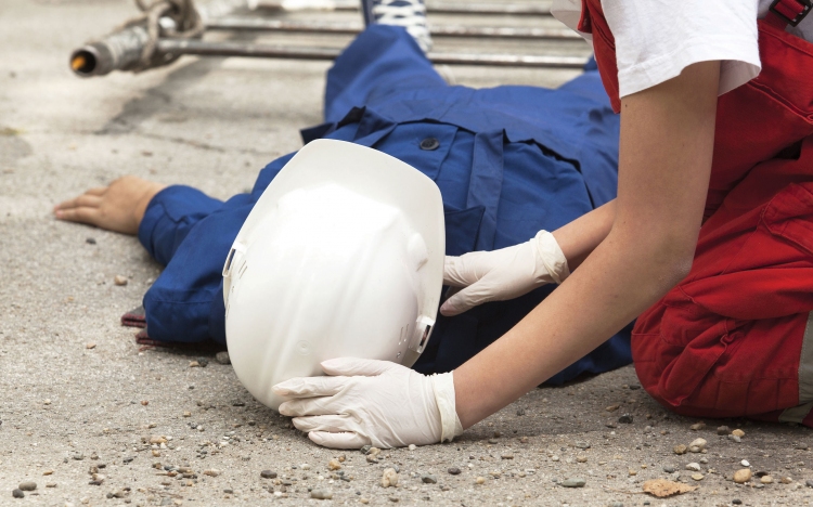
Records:
{"label": "middle of the three horizontal metal pipes behind the lying person", "polygon": [[[251,17],[227,17],[209,20],[207,29],[283,31],[300,34],[356,35],[363,30],[359,23],[297,22],[288,20],[257,20]],[[476,37],[499,39],[583,40],[581,36],[565,28],[519,28],[465,25],[429,27],[433,37]]]}

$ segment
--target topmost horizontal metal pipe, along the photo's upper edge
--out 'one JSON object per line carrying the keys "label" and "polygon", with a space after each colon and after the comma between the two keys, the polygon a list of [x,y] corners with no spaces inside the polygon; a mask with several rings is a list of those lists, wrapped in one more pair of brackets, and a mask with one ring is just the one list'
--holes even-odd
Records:
{"label": "topmost horizontal metal pipe, along the photo's upper edge", "polygon": [[[261,9],[279,11],[358,11],[357,0],[254,0],[255,5]],[[435,14],[473,14],[473,15],[519,15],[519,16],[550,16],[551,9],[535,4],[503,4],[503,3],[450,3],[427,2],[426,10]]]}

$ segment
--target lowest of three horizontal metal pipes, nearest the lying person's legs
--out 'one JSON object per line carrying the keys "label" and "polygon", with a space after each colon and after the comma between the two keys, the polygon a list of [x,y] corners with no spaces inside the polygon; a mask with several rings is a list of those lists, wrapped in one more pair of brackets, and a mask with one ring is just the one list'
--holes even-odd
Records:
{"label": "lowest of three horizontal metal pipes, nearest the lying person's legs", "polygon": [[[335,60],[341,50],[334,48],[301,48],[288,46],[251,44],[242,42],[207,42],[203,40],[160,39],[158,51],[173,56],[248,56],[286,60]],[[428,54],[436,64],[489,65],[533,68],[582,68],[586,58],[578,56],[543,56],[515,54],[438,53]]]}

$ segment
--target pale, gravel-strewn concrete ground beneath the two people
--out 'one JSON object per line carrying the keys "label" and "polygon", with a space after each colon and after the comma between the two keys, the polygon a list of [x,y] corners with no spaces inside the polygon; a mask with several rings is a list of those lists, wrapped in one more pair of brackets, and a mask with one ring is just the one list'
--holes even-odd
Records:
{"label": "pale, gravel-strewn concrete ground beneath the two people", "polygon": [[[132,13],[127,0],[0,2],[0,505],[809,504],[806,429],[707,420],[693,430],[699,421],[669,415],[630,367],[534,390],[453,444],[384,451],[371,464],[357,451],[311,444],[211,356],[190,367],[199,353],[140,349],[119,315],[140,303],[160,266],[134,238],[56,222],[51,206],[125,173],[218,197],[249,187],[266,162],[300,146],[298,128],[320,122],[327,63],[190,57],[138,76],[75,78],[69,51]],[[476,41],[439,47],[476,50]],[[589,51],[581,42],[520,49]],[[451,73],[476,87],[551,86],[573,75]],[[115,285],[116,275],[128,284]],[[619,422],[624,414],[632,422]],[[718,435],[720,425],[743,429],[741,443]],[[696,438],[708,441],[705,454],[673,453]],[[341,469],[330,470],[341,456]],[[735,484],[743,459],[773,482]],[[692,461],[699,471],[685,469]],[[398,467],[398,487],[379,485],[387,467]],[[581,489],[559,485],[579,478]],[[642,494],[654,478],[697,490]],[[36,490],[14,498],[26,481]],[[311,499],[309,490],[333,498]]]}

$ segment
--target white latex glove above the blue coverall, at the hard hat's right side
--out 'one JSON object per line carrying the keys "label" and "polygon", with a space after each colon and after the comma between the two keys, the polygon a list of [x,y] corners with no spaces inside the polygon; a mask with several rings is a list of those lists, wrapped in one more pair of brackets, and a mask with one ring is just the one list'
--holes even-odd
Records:
{"label": "white latex glove above the blue coverall, at the hard hat's right side", "polygon": [[488,301],[518,298],[542,285],[560,284],[569,275],[565,253],[547,231],[500,250],[447,256],[443,284],[465,288],[447,299],[440,313],[457,315]]}

